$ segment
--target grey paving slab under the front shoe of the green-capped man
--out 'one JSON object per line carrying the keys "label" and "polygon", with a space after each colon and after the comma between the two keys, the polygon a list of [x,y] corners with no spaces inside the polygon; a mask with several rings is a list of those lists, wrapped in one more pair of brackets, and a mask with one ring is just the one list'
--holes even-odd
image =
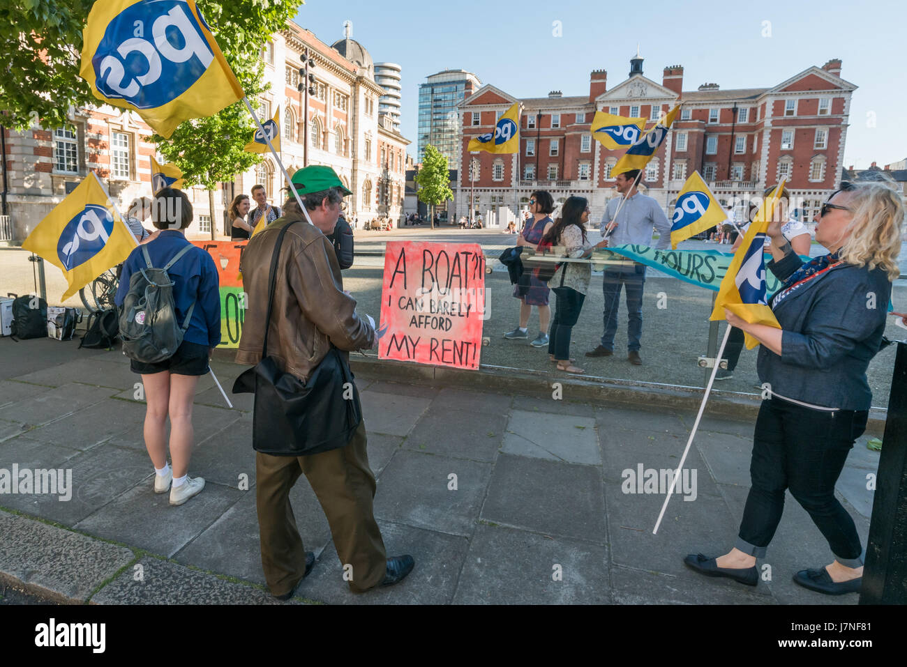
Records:
{"label": "grey paving slab under the front shoe of the green-capped man", "polygon": [[327,604],[449,604],[469,548],[466,537],[386,521],[378,521],[378,527],[388,556],[414,558],[413,571],[402,582],[353,593],[331,542],[297,594]]}

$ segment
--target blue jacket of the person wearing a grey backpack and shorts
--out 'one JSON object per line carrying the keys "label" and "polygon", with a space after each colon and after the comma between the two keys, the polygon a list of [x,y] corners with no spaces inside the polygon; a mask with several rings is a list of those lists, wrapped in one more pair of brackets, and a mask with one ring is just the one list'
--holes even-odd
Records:
{"label": "blue jacket of the person wearing a grey backpack and shorts", "polygon": [[[186,245],[190,245],[190,243],[182,232],[176,229],[164,229],[151,243],[145,244],[145,247],[148,248],[151,264],[155,268],[163,268]],[[114,299],[118,306],[121,306],[126,299],[132,274],[145,266],[145,258],[140,246],[135,248],[123,262],[120,287],[117,289]],[[171,266],[167,274],[175,283],[173,285],[173,304],[176,306],[176,317],[180,326],[186,318],[192,302],[197,302],[183,340],[207,347],[218,346],[220,344],[220,279],[214,260],[200,247],[193,247],[180,257],[180,261]]]}

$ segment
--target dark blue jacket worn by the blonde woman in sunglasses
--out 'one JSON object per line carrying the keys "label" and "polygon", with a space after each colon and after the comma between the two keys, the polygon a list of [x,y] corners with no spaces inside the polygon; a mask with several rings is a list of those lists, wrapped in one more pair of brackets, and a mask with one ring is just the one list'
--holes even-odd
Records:
{"label": "dark blue jacket worn by the blonde woman in sunglasses", "polygon": [[[803,265],[795,254],[768,263],[785,280]],[[772,391],[840,410],[869,410],[866,368],[882,346],[892,284],[882,268],[839,266],[774,309],[784,330],[781,356],[759,347],[756,369]]]}

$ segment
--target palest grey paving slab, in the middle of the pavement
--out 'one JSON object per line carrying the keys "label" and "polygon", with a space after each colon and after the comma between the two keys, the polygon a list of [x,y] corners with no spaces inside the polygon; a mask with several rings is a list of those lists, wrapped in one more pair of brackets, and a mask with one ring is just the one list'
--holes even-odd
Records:
{"label": "palest grey paving slab, in the middle of the pavement", "polygon": [[456,459],[493,461],[505,437],[506,415],[438,409],[437,401],[416,422],[404,447]]}

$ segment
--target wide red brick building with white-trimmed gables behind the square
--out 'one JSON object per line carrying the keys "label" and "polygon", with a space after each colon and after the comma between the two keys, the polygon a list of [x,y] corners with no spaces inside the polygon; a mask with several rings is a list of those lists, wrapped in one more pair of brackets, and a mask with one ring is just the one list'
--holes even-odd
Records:
{"label": "wide red brick building with white-trimmed gables behind the square", "polygon": [[[684,91],[680,65],[664,68],[661,83],[654,82],[643,75],[642,63],[633,58],[629,78],[611,89],[607,72],[592,72],[584,95],[552,91],[518,100],[485,85],[463,100],[457,216],[469,215],[474,189],[475,215],[503,226],[528,208],[533,189],[547,189],[556,201],[589,198],[591,218],[600,219],[617,194],[610,169],[625,151],[607,150],[592,140],[595,112],[642,116],[649,119],[649,129],[676,104],[681,105],[678,119],[644,177],[648,194],[668,213],[694,170],[723,201],[761,196],[784,177],[810,216],[837,187],[856,89],[840,77],[840,60],[810,67],[771,88],[726,91],[716,83]],[[519,155],[470,155],[469,140],[493,131],[514,102],[521,107]]]}

